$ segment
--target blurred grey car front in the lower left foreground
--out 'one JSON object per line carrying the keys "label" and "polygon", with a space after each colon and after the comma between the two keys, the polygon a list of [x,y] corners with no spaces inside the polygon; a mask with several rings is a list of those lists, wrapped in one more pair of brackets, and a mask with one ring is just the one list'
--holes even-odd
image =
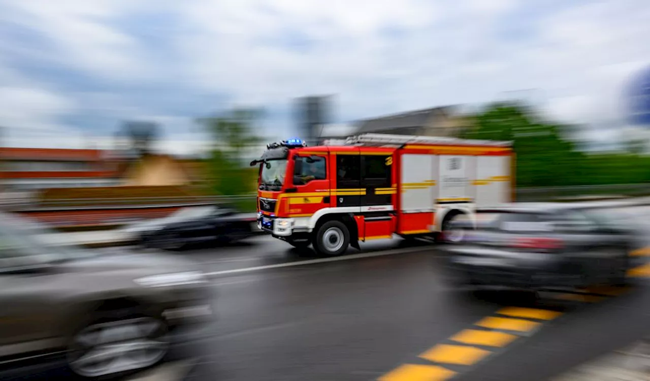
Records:
{"label": "blurred grey car front in the lower left foreground", "polygon": [[43,367],[123,375],[205,335],[213,295],[198,265],[52,246],[48,233],[0,213],[0,379]]}

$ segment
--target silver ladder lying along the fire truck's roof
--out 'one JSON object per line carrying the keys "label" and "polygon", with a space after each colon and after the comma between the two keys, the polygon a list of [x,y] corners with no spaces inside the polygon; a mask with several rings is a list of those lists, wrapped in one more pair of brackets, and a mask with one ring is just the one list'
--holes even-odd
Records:
{"label": "silver ladder lying along the fire truck's roof", "polygon": [[402,146],[404,144],[461,144],[464,146],[512,146],[512,142],[496,140],[470,140],[448,137],[423,137],[413,135],[389,135],[367,133],[354,135],[345,139],[346,146]]}

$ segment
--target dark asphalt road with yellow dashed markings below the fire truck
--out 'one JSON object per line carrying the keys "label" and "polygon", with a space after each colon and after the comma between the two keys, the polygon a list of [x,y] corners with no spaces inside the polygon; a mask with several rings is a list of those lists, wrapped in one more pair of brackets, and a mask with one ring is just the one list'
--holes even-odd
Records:
{"label": "dark asphalt road with yellow dashed markings below the fire truck", "polygon": [[[647,210],[626,212],[650,232]],[[430,243],[348,254],[317,257],[266,236],[171,254],[211,274],[215,321],[189,360],[129,379],[547,380],[650,331],[643,280],[618,296],[467,295],[443,281]]]}

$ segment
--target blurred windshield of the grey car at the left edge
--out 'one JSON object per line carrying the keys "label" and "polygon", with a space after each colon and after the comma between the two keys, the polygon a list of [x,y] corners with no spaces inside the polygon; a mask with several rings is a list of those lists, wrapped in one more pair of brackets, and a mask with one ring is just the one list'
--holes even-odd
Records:
{"label": "blurred windshield of the grey car at the left edge", "polygon": [[12,261],[27,257],[30,263],[48,263],[96,255],[90,250],[52,244],[48,238],[56,235],[56,232],[31,220],[1,214],[0,267],[8,267]]}

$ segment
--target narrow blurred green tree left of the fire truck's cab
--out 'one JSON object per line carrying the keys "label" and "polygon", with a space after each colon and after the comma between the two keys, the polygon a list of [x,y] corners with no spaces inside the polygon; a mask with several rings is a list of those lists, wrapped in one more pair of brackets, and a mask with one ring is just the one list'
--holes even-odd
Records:
{"label": "narrow blurred green tree left of the fire truck's cab", "polygon": [[[263,142],[258,109],[234,109],[197,120],[211,137],[209,183],[214,194],[232,196],[253,191],[250,168],[244,167],[246,151]],[[254,203],[254,200],[253,200]]]}

